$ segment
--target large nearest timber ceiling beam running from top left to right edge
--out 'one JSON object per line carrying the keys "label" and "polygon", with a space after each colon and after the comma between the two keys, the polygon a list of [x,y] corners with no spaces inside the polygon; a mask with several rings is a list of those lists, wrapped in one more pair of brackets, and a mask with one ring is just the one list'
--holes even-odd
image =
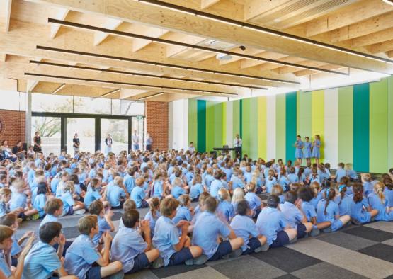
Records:
{"label": "large nearest timber ceiling beam running from top left to right edge", "polygon": [[[385,62],[356,57],[354,55],[336,52],[335,50],[322,49],[314,45],[307,45],[302,42],[278,38],[274,35],[261,35],[258,31],[240,28],[206,18],[191,16],[181,12],[143,4],[137,1],[125,2],[121,0],[96,0],[94,1],[94,4],[86,4],[85,2],[82,4],[80,1],[72,0],[35,1],[42,4],[62,5],[64,7],[70,7],[76,11],[86,13],[101,13],[124,21],[137,21],[181,33],[200,35],[205,38],[214,38],[215,40],[221,40],[223,42],[229,42],[236,45],[256,48],[261,47],[264,50],[326,62],[326,64],[340,64],[345,67],[366,69],[386,74],[393,73],[393,66]],[[388,13],[384,16],[386,15],[388,15]],[[393,22],[393,16],[390,17],[389,21]]]}

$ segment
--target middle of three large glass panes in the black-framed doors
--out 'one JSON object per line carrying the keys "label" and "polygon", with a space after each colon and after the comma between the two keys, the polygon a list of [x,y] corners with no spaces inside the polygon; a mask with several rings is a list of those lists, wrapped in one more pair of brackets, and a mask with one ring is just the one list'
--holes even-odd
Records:
{"label": "middle of three large glass panes in the black-framed doors", "polygon": [[95,152],[95,119],[94,118],[67,118],[67,153],[72,154],[74,135],[78,134],[82,152]]}

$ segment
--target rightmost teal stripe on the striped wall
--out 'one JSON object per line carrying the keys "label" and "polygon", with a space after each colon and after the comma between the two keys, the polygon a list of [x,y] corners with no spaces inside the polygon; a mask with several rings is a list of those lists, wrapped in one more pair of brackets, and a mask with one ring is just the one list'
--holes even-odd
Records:
{"label": "rightmost teal stripe on the striped wall", "polygon": [[353,86],[353,169],[370,167],[370,84]]}

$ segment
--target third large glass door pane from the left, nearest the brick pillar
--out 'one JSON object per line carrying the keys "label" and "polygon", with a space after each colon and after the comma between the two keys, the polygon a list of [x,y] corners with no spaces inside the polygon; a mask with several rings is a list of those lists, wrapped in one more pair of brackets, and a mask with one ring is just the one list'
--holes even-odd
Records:
{"label": "third large glass door pane from the left, nearest the brick pillar", "polygon": [[[108,135],[112,137],[112,146],[106,145]],[[101,119],[101,150],[106,154],[112,151],[118,154],[128,150],[128,120],[125,119]]]}

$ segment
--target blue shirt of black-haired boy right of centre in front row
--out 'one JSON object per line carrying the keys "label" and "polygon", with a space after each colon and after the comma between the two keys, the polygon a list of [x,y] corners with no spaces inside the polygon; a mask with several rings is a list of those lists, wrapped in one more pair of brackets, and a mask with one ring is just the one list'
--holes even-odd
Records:
{"label": "blue shirt of black-haired boy right of centre in front row", "polygon": [[250,237],[259,236],[259,232],[258,229],[256,228],[256,224],[248,216],[236,215],[234,219],[232,219],[231,227],[234,230],[236,236],[241,237],[243,239],[243,245],[241,246],[241,251],[247,250]]}

